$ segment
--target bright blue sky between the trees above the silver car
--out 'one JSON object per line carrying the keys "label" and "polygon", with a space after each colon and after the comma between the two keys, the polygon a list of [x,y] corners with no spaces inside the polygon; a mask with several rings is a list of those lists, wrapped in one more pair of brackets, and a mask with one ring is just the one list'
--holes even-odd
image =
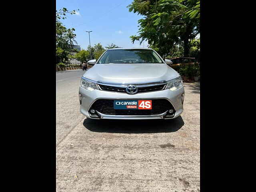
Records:
{"label": "bright blue sky between the trees above the silver car", "polygon": [[138,34],[138,20],[142,16],[129,12],[127,6],[132,0],[56,0],[56,9],[63,7],[69,11],[77,10],[74,15],[67,14],[67,18],[60,20],[66,28],[75,28],[76,41],[82,49],[89,45],[101,43],[103,47],[116,44],[122,48],[147,47],[147,42],[140,45],[130,39]]}

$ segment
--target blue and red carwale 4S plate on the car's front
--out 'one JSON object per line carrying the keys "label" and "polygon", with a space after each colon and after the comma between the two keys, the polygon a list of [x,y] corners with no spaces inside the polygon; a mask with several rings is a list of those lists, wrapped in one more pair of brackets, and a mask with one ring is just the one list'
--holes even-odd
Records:
{"label": "blue and red carwale 4S plate on the car's front", "polygon": [[152,109],[152,100],[114,100],[114,109]]}

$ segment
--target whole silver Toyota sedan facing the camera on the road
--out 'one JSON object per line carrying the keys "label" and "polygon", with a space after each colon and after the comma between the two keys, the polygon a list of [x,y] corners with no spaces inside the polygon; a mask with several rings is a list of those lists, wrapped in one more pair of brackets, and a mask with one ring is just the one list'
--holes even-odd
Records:
{"label": "whole silver Toyota sedan facing the camera on the road", "polygon": [[148,48],[106,50],[80,81],[80,112],[91,119],[173,119],[183,112],[181,76]]}

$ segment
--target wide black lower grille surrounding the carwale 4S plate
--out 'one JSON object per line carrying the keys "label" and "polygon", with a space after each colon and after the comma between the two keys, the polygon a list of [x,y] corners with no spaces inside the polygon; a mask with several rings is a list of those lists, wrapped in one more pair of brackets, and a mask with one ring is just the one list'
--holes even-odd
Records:
{"label": "wide black lower grille surrounding the carwale 4S plate", "polygon": [[152,99],[151,110],[114,109],[114,99],[98,99],[94,102],[94,104],[92,104],[90,109],[94,109],[106,115],[157,115],[162,114],[170,109],[174,110],[174,107],[166,99]]}

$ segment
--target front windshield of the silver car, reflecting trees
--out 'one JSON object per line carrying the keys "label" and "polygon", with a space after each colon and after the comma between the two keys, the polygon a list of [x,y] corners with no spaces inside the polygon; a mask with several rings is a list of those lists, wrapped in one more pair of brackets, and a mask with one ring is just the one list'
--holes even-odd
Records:
{"label": "front windshield of the silver car, reflecting trees", "polygon": [[163,63],[150,49],[113,49],[107,50],[97,64],[110,63]]}

